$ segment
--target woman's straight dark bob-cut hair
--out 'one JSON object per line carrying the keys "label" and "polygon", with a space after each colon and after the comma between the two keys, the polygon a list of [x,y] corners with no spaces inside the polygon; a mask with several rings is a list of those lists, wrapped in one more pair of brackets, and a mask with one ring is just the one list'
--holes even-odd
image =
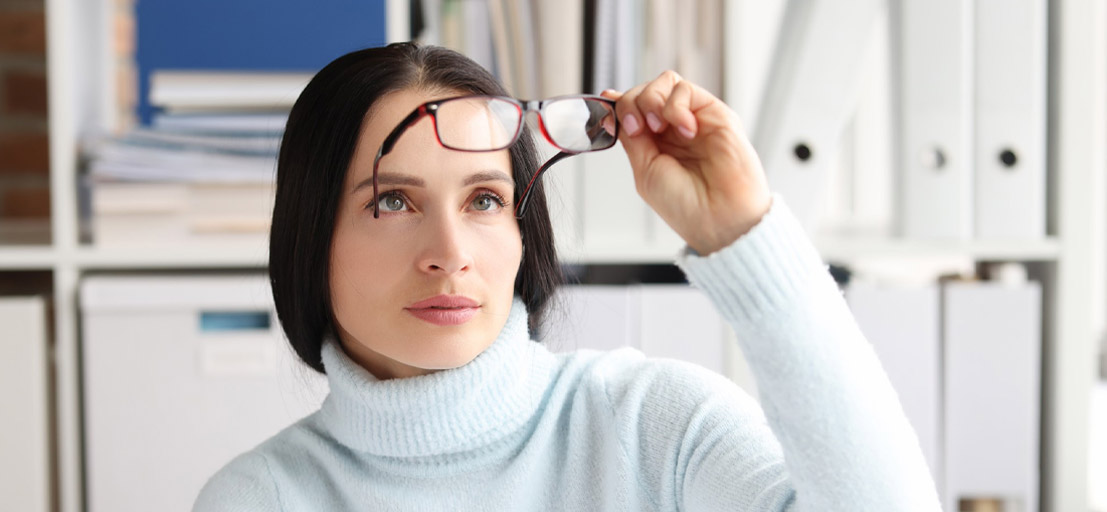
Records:
{"label": "woman's straight dark bob-cut hair", "polygon": [[[407,88],[507,95],[495,76],[457,52],[393,43],[335,59],[311,79],[289,113],[277,161],[269,282],[289,343],[300,359],[319,373],[325,373],[323,339],[335,333],[330,255],[346,170],[362,123],[375,102]],[[517,202],[538,170],[538,151],[527,130],[508,150]],[[565,278],[541,182],[531,194],[527,212],[518,220],[524,251],[515,296],[527,305],[527,323],[534,333]],[[366,264],[372,264],[370,261]]]}

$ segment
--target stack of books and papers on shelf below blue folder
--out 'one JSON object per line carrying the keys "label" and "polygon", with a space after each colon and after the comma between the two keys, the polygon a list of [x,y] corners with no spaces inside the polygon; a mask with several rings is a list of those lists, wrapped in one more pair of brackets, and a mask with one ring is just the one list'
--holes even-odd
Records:
{"label": "stack of books and papers on shelf below blue folder", "polygon": [[93,243],[263,245],[280,138],[310,77],[154,73],[151,125],[93,144]]}

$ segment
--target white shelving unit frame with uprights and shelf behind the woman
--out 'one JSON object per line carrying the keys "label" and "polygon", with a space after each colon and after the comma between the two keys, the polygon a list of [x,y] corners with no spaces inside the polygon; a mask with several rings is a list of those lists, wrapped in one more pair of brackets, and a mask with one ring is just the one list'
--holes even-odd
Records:
{"label": "white shelving unit frame with uprights and shelf behind the woman", "polygon": [[[404,4],[389,0],[390,6]],[[80,134],[114,124],[115,76],[110,44],[114,2],[46,0],[52,243],[0,245],[0,271],[50,271],[55,312],[59,473],[62,512],[84,510],[77,285],[87,271],[104,269],[257,269],[266,254],[239,251],[106,250],[77,237]],[[405,39],[407,20],[390,9],[391,40]],[[1088,398],[1095,376],[1096,339],[1105,306],[1107,212],[1107,7],[1105,0],[1051,1],[1049,198],[1053,236],[1027,243],[928,243],[910,240],[819,238],[828,259],[961,258],[1043,262],[1046,333],[1043,373],[1043,497],[1051,512],[1087,510]],[[99,65],[105,63],[104,65]],[[671,261],[656,251],[597,250],[577,262]],[[572,261],[572,260],[571,260]]]}

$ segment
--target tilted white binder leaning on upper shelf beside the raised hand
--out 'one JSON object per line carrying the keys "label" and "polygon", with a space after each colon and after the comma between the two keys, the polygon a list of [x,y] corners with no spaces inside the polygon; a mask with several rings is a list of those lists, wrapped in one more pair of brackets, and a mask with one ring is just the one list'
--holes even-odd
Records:
{"label": "tilted white binder leaning on upper shelf beside the raised hand", "polygon": [[792,0],[785,8],[753,143],[769,185],[818,226],[828,167],[859,96],[879,0]]}

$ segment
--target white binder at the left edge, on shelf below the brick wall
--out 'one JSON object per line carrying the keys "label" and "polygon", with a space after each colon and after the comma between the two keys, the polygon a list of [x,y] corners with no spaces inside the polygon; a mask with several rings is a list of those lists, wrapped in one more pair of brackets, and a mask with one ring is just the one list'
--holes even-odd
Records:
{"label": "white binder at the left edge, on shelf below the brick wall", "polygon": [[46,314],[41,297],[0,297],[0,497],[4,510],[50,508]]}

